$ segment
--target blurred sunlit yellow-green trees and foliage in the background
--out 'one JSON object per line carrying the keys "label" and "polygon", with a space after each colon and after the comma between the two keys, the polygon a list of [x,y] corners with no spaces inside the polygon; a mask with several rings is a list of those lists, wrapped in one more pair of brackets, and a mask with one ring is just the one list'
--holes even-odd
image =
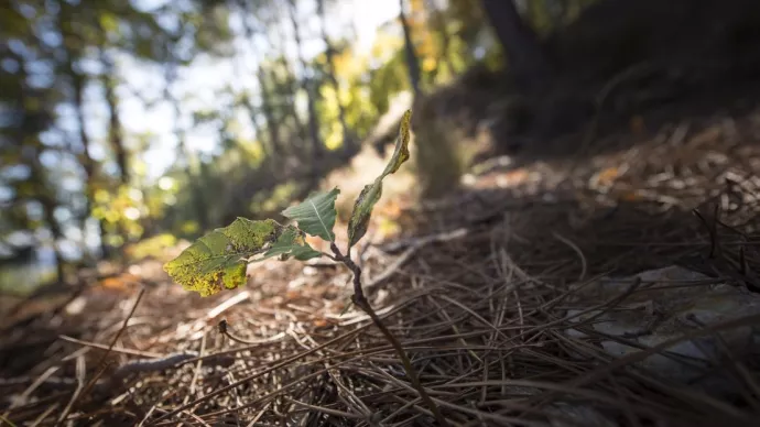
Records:
{"label": "blurred sunlit yellow-green trees and foliage in the background", "polygon": [[[589,2],[531,1],[524,13],[545,33]],[[424,91],[501,61],[479,2],[406,9]],[[196,238],[304,196],[410,90],[399,20],[365,50],[350,10],[362,12],[349,0],[3,1],[2,256],[18,240],[59,265],[127,248],[145,256],[169,236]],[[308,106],[324,146],[313,145]],[[166,129],[140,128],[153,114]],[[446,168],[458,164],[452,150]],[[156,173],[159,161],[169,167]]]}

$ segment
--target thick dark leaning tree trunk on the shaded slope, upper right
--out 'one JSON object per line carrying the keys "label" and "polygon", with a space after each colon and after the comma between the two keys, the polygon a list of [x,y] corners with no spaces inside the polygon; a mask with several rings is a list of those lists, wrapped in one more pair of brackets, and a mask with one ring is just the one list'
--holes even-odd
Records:
{"label": "thick dark leaning tree trunk on the shaded slope, upper right", "polygon": [[482,0],[482,6],[507,55],[515,83],[528,90],[545,87],[553,74],[549,59],[535,33],[520,17],[513,0]]}

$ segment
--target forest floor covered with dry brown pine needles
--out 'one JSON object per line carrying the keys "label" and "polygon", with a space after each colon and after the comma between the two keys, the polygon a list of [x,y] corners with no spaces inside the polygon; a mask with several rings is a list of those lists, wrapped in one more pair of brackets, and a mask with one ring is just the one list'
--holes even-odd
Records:
{"label": "forest floor covered with dry brown pine needles", "polygon": [[[357,262],[452,425],[760,418],[760,106],[742,94],[588,124],[434,201],[409,174],[387,179]],[[325,185],[346,184],[345,210],[382,164],[367,150]],[[346,307],[346,269],[264,262],[200,298],[162,270],[182,249],[4,315],[0,420],[435,425]]]}

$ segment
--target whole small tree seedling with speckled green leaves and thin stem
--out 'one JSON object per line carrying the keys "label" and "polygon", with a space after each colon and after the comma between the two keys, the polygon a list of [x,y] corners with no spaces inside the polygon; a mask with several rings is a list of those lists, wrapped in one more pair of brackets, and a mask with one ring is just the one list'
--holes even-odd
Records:
{"label": "whole small tree seedling with speckled green leaves and thin stem", "polygon": [[[399,130],[395,151],[390,162],[374,182],[363,187],[354,204],[348,221],[348,248],[344,254],[335,242],[335,200],[340,190],[334,188],[306,198],[302,204],[290,207],[282,215],[297,223],[282,226],[272,219],[236,219],[231,225],[214,230],[185,249],[176,259],[167,262],[164,270],[185,289],[202,296],[214,295],[222,289],[234,289],[246,283],[246,269],[249,263],[278,256],[280,260],[296,259],[306,261],[327,256],[340,262],[354,274],[354,295],[351,302],[365,311],[380,329],[401,359],[404,371],[420,398],[431,410],[439,425],[446,419],[438,406],[422,387],[416,370],[406,355],[401,342],[391,333],[367,300],[361,286],[361,269],[351,260],[351,248],[365,236],[374,205],[382,196],[382,180],[395,173],[409,160],[410,121],[412,111],[408,110]],[[308,245],[305,236],[319,237],[329,242],[332,254],[317,251]]]}

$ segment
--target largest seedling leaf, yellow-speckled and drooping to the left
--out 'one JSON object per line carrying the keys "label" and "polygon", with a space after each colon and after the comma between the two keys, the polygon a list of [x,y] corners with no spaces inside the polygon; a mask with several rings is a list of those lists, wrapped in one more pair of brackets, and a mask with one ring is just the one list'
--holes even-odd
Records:
{"label": "largest seedling leaf, yellow-speckled and drooping to the left", "polygon": [[[262,253],[262,258],[252,260]],[[283,227],[271,219],[238,218],[228,227],[198,239],[164,264],[164,271],[185,289],[208,296],[242,286],[249,262],[274,255],[307,260],[322,254],[308,247],[303,234],[292,226]]]}

